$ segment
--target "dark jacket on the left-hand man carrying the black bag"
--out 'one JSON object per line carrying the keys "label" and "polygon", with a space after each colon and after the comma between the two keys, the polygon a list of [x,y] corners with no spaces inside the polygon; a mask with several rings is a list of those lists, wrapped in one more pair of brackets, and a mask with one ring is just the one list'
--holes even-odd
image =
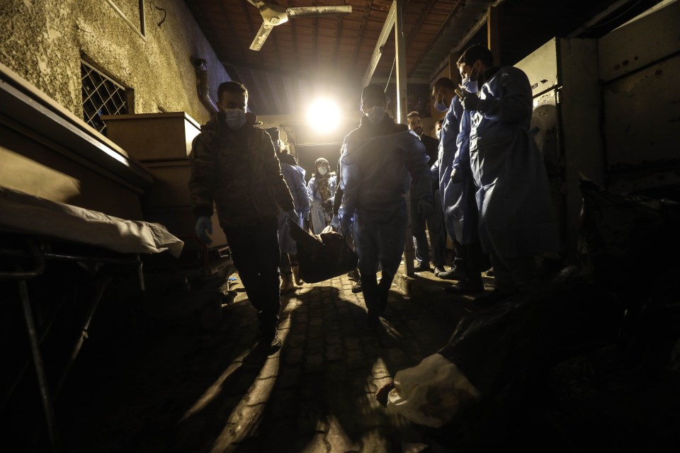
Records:
{"label": "dark jacket on the left-hand man carrying the black bag", "polygon": [[246,113],[239,130],[218,113],[201,127],[191,149],[189,192],[196,217],[211,216],[215,202],[220,225],[257,224],[293,210],[269,134]]}

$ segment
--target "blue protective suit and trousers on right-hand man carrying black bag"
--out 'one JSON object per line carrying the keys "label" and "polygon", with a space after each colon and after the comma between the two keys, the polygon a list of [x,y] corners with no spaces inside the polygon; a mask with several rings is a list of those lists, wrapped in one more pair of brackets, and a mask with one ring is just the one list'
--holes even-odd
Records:
{"label": "blue protective suit and trousers on right-hand man carrying black bag", "polygon": [[[404,251],[408,222],[404,194],[411,188],[414,200],[433,202],[427,161],[421,141],[389,117],[378,125],[363,117],[361,126],[345,137],[340,158],[341,226],[345,229],[354,217],[354,243],[369,316],[385,309]],[[378,263],[380,285],[375,280]]]}

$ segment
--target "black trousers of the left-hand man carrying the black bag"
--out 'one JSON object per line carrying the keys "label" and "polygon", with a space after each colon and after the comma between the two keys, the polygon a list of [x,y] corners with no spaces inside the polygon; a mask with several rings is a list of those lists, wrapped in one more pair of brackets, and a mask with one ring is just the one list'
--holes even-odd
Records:
{"label": "black trousers of the left-hand man carrying the black bag", "polygon": [[276,218],[259,224],[226,226],[225,235],[248,299],[259,310],[260,328],[269,335],[276,329],[280,309]]}

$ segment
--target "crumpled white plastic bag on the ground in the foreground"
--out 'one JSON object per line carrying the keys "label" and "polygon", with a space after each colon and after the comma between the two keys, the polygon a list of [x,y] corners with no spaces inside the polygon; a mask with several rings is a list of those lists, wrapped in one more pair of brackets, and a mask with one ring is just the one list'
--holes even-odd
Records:
{"label": "crumpled white plastic bag on the ground in the foreground", "polygon": [[387,395],[387,411],[419,425],[440,428],[480,392],[453,362],[440,354],[395,374],[395,388]]}

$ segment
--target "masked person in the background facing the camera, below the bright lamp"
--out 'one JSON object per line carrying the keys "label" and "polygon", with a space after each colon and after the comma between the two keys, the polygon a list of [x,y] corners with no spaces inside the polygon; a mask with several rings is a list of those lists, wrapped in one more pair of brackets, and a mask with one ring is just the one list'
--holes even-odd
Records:
{"label": "masked person in the background facing the camera, below the bright lamp", "polygon": [[324,228],[331,222],[333,217],[333,200],[336,189],[336,175],[330,171],[328,161],[322,157],[314,164],[317,171],[312,174],[307,183],[307,194],[312,205],[312,232],[321,234]]}

